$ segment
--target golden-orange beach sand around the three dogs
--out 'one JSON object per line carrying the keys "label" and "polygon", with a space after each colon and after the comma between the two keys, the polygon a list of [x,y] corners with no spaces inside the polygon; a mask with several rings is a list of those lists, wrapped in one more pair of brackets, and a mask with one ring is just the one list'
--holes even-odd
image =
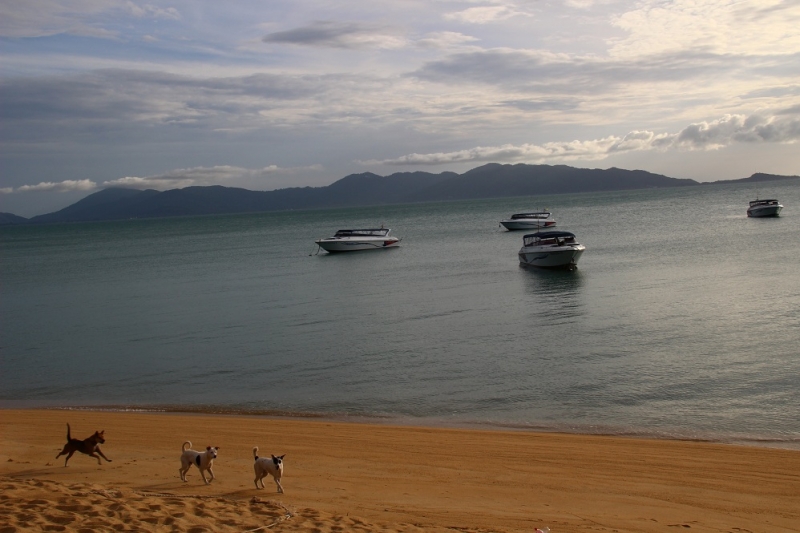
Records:
{"label": "golden-orange beach sand around the three dogs", "polygon": [[[56,454],[105,430],[113,462]],[[216,480],[178,476],[219,446]],[[800,531],[800,452],[704,442],[320,419],[0,410],[11,531]],[[286,454],[284,494],[253,446]]]}

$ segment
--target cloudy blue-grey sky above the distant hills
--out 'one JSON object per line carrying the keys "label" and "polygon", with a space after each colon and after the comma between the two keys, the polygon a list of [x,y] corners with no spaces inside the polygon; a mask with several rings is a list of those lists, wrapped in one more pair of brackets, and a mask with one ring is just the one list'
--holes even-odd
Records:
{"label": "cloudy blue-grey sky above the distant hills", "polygon": [[800,0],[0,0],[0,211],[485,163],[800,174]]}

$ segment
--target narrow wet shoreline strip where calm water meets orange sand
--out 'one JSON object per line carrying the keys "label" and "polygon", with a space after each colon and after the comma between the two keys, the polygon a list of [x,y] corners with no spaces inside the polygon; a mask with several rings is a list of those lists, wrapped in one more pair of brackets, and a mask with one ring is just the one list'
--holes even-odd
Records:
{"label": "narrow wet shoreline strip where calm water meets orange sand", "polygon": [[[283,411],[278,409],[246,409],[224,405],[73,405],[52,406],[42,405],[36,407],[22,406],[9,407],[12,402],[0,402],[0,412],[4,410],[44,410],[44,411],[95,411],[109,413],[164,413],[177,415],[212,415],[212,416],[252,416],[267,419],[285,420],[318,420],[343,422],[353,424],[393,425],[398,427],[424,427],[442,429],[464,429],[476,431],[512,431],[528,433],[554,433],[565,435],[586,435],[597,437],[619,437],[644,440],[663,440],[678,442],[705,442],[711,444],[725,444],[732,446],[751,446],[756,448],[770,448],[779,450],[800,451],[800,436],[796,437],[769,437],[753,435],[721,435],[712,433],[698,433],[690,431],[643,431],[634,428],[612,426],[578,426],[575,424],[545,425],[521,424],[502,421],[477,421],[469,419],[445,418],[414,418],[391,414],[350,414],[308,411]],[[27,402],[25,402],[27,403]]]}

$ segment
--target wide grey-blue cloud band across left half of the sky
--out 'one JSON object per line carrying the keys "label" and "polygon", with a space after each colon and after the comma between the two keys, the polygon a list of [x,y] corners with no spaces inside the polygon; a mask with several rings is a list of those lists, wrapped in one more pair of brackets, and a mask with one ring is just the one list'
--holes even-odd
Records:
{"label": "wide grey-blue cloud band across left half of the sky", "polygon": [[348,86],[350,94],[357,95],[377,88],[374,80],[363,76],[353,87],[352,78],[277,74],[195,78],[108,69],[0,80],[0,116],[6,125],[2,136],[6,142],[46,142],[69,139],[75,132],[107,137],[109,131],[131,131],[137,125],[181,128],[185,133],[318,124],[313,113],[325,108],[332,91]]}

